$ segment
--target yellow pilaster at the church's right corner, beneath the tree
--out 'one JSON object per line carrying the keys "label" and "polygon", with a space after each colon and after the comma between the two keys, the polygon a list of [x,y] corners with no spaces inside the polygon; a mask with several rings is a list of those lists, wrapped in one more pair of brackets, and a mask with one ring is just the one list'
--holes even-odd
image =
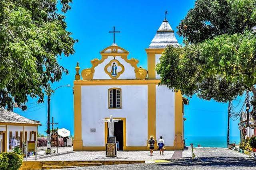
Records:
{"label": "yellow pilaster at the church's right corner, beneath the tree", "polygon": [[183,113],[182,113],[182,94],[180,91],[175,93],[175,139],[174,149],[183,150]]}

